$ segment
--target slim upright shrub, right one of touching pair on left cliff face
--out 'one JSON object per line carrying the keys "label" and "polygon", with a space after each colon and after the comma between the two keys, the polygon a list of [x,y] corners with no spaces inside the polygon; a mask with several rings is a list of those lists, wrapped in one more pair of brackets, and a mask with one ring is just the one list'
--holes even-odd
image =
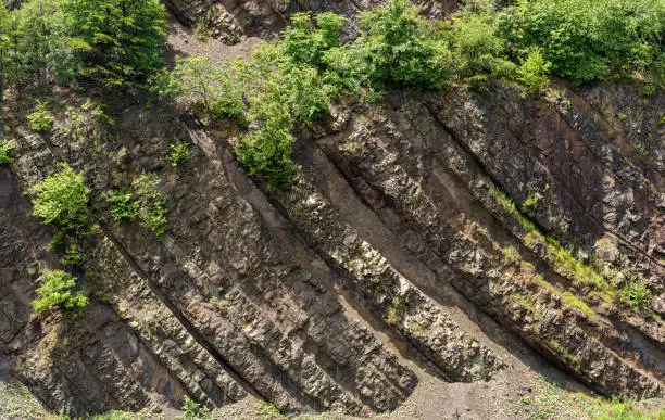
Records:
{"label": "slim upright shrub, right one of touching pair on left cliff face", "polygon": [[156,190],[161,180],[155,174],[141,174],[134,183],[141,226],[158,238],[166,232],[167,196]]}

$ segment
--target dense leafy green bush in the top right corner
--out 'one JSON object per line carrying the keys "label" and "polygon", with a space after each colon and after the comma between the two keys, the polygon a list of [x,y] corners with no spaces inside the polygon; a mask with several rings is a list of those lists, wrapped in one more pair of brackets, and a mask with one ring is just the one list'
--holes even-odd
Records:
{"label": "dense leafy green bush in the top right corner", "polygon": [[502,23],[517,55],[543,48],[554,74],[582,84],[657,72],[664,10],[661,0],[532,0],[506,9]]}

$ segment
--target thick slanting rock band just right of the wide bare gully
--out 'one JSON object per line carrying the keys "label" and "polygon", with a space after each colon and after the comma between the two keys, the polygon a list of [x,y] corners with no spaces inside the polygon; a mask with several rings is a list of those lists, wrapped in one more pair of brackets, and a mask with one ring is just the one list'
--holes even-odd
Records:
{"label": "thick slanting rock band just right of the wide bare gully", "polygon": [[[393,114],[389,107],[360,115],[355,111],[341,133],[317,142],[384,222],[410,238],[406,246],[439,272],[441,281],[451,281],[467,298],[502,323],[516,328],[523,338],[598,391],[611,394],[622,389],[630,394],[638,390],[638,395],[660,395],[660,321],[642,321],[653,324],[643,330],[653,333],[650,339],[655,346],[643,348],[637,340],[627,351],[626,339],[608,338],[598,315],[591,313],[588,319],[566,304],[570,296],[564,295],[565,289],[555,288],[562,282],[557,280],[557,267],[550,268],[553,271],[535,269],[528,263],[532,257],[519,253],[518,266],[506,259],[504,247],[520,245],[490,222],[492,215],[473,204],[476,199],[468,191],[474,184],[455,180],[457,176],[470,182],[477,180],[468,174],[469,168],[478,170],[474,168],[475,158],[460,148],[427,106],[407,103],[394,109]],[[344,118],[349,117],[350,114],[339,114],[342,119],[334,126],[344,127]],[[450,169],[451,163],[454,170]],[[527,254],[528,251],[523,250]],[[575,316],[559,315],[562,313]],[[618,342],[623,342],[620,347]],[[622,360],[629,353],[641,354],[639,369],[632,361]]]}

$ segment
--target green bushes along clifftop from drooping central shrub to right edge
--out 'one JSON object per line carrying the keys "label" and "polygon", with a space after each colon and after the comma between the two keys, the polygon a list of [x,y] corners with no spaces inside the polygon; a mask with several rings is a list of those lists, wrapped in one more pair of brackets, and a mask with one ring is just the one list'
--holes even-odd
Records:
{"label": "green bushes along clifftop from drooping central shrub to right edge", "polygon": [[211,123],[239,119],[239,161],[280,190],[293,176],[293,128],[325,118],[347,93],[439,91],[451,80],[488,88],[490,78],[507,78],[539,94],[550,73],[581,82],[650,69],[657,81],[665,67],[658,2],[523,0],[497,11],[493,0],[466,0],[447,22],[431,23],[409,0],[388,0],[361,14],[348,43],[340,42],[343,17],[296,13],[251,62],[178,59],[161,91],[202,103]]}

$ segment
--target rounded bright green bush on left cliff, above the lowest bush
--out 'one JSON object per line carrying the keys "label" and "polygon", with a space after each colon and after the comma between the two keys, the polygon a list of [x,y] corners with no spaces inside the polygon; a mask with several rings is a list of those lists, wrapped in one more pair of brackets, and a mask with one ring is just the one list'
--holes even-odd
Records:
{"label": "rounded bright green bush on left cliff, above the lowest bush", "polygon": [[88,194],[83,173],[75,173],[66,163],[60,171],[48,176],[33,188],[33,215],[45,225],[55,225],[61,233],[78,236],[88,224]]}

